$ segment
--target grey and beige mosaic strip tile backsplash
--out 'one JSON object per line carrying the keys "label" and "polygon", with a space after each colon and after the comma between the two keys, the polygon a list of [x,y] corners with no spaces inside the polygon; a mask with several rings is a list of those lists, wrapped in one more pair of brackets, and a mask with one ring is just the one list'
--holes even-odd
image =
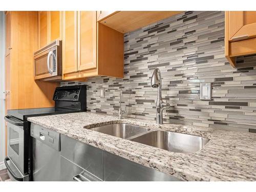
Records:
{"label": "grey and beige mosaic strip tile backsplash", "polygon": [[[88,111],[118,115],[123,90],[124,116],[156,117],[155,68],[162,75],[162,97],[171,109],[165,122],[232,131],[256,129],[256,56],[224,56],[224,12],[187,11],[124,35],[124,78],[92,77]],[[200,100],[200,82],[212,82],[211,101]],[[66,82],[73,84],[79,82]],[[105,97],[100,98],[100,88]]]}

